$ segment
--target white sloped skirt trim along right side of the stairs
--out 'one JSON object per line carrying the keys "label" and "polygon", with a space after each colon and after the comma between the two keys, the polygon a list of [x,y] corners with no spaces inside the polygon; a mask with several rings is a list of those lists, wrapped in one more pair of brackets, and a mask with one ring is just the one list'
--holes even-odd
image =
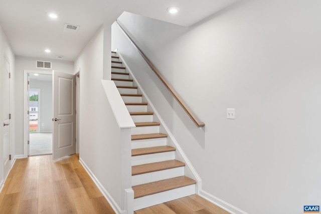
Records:
{"label": "white sloped skirt trim along right side of the stairs", "polygon": [[132,76],[132,79],[135,81],[135,83],[137,84],[139,90],[141,91],[141,93],[143,94],[143,96],[145,97],[148,105],[152,108],[154,114],[156,115],[156,117],[159,119],[159,122],[161,122],[161,124],[163,125],[163,127],[165,128],[168,136],[172,139],[177,152],[180,153],[180,155],[182,156],[182,158],[184,159],[184,162],[186,164],[186,167],[189,168],[189,170],[193,173],[194,175],[194,179],[197,180],[197,184],[196,186],[196,192],[197,194],[199,194],[200,189],[202,188],[202,179],[201,177],[198,175],[198,173],[196,172],[195,168],[193,167],[192,163],[190,162],[190,160],[187,158],[186,154],[184,153],[183,149],[181,148],[181,146],[179,145],[179,143],[177,142],[177,140],[175,139],[174,135],[172,134],[172,132],[170,131],[170,129],[168,128],[168,126],[165,124],[164,120],[162,119],[161,115],[159,115],[159,113],[156,111],[155,107],[152,105],[152,103],[150,102],[150,99],[147,97],[146,93],[144,92],[144,90],[142,89],[141,85],[139,84],[139,82],[137,81],[137,79],[135,78],[134,74],[132,73],[132,71],[130,70],[129,66],[126,64],[124,58],[121,56],[121,54],[119,52],[117,52],[119,58],[121,59],[121,62],[124,64],[124,67],[126,67],[126,69],[128,70],[128,72],[130,73],[130,75]]}

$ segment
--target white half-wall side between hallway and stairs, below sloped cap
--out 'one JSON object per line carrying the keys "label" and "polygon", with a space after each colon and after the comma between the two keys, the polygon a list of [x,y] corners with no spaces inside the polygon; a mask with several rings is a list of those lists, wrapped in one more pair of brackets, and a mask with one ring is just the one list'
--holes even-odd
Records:
{"label": "white half-wall side between hallway and stairs, below sloped cap", "polygon": [[111,59],[110,34],[110,25],[103,26],[75,60],[74,73],[80,71],[79,155],[114,200],[110,202],[121,207],[121,135],[101,84],[111,72],[110,66],[103,69],[104,58]]}

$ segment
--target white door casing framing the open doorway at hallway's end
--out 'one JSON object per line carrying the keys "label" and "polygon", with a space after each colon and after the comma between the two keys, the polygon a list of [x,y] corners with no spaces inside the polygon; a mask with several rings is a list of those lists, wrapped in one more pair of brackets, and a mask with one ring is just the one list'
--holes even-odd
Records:
{"label": "white door casing framing the open doorway at hallway's end", "polygon": [[29,134],[29,117],[28,117],[28,75],[29,74],[49,74],[52,75],[52,71],[36,71],[36,70],[24,70],[24,157],[28,157],[28,134]]}

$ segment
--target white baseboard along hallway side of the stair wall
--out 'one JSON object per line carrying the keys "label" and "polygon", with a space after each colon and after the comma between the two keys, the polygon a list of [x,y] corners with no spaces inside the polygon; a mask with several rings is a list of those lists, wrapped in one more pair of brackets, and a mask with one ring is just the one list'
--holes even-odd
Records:
{"label": "white baseboard along hallway side of the stair wall", "polygon": [[119,214],[125,214],[126,212],[124,210],[121,210],[121,208],[118,206],[116,201],[112,198],[112,196],[109,194],[109,192],[105,189],[105,187],[99,182],[97,177],[92,173],[92,171],[89,169],[89,167],[86,165],[86,163],[79,158],[80,164],[84,167],[84,169],[87,171],[91,179],[94,181],[98,189],[101,191],[101,193],[104,195],[108,203],[110,204],[111,208]]}

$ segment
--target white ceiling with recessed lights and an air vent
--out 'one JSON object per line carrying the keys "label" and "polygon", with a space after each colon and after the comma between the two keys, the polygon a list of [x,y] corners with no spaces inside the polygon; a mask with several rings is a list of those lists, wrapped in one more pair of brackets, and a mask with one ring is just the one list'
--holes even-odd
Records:
{"label": "white ceiling with recessed lights and an air vent", "polygon": [[[237,0],[0,0],[0,25],[17,56],[74,61],[102,24],[112,24],[122,12],[192,26]],[[166,9],[180,8],[173,16]],[[57,20],[48,12],[59,14]],[[63,32],[67,24],[77,33]],[[49,48],[47,54],[44,49]]]}

